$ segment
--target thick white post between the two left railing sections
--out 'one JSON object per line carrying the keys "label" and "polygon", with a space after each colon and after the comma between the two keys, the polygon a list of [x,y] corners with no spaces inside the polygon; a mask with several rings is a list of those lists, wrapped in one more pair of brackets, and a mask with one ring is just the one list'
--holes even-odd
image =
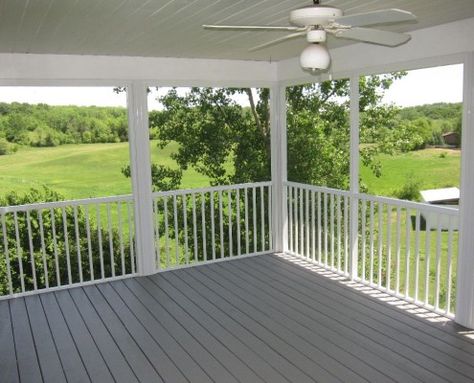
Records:
{"label": "thick white post between the two left railing sections", "polygon": [[127,104],[130,172],[135,205],[135,254],[138,273],[149,275],[155,272],[156,264],[146,84],[133,82],[128,86]]}

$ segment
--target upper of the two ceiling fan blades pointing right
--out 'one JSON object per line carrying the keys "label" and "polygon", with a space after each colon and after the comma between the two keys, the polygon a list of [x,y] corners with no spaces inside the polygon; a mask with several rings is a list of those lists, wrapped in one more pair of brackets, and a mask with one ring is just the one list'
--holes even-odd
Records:
{"label": "upper of the two ceiling fan blades pointing right", "polygon": [[342,25],[350,25],[353,27],[375,25],[375,24],[388,24],[388,23],[401,23],[403,21],[416,20],[416,16],[408,11],[401,9],[382,9],[380,11],[358,13],[355,15],[341,16],[334,21]]}

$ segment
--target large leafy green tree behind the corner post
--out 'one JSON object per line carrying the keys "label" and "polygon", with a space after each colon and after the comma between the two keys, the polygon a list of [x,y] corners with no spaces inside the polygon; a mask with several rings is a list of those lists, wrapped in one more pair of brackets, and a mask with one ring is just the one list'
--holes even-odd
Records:
{"label": "large leafy green tree behind the corner post", "polygon": [[[379,101],[383,91],[392,82],[401,77],[402,73],[384,76],[361,78],[360,108],[363,113],[363,123],[366,130],[375,134],[378,129],[391,123],[395,116],[394,108],[383,107]],[[234,95],[246,95],[249,107],[242,107]],[[255,97],[255,95],[257,97]],[[293,181],[316,183],[336,188],[346,188],[349,180],[349,81],[328,81],[322,84],[309,84],[291,87],[287,90],[288,102],[288,178]],[[169,142],[179,144],[172,158],[178,169],[153,165],[152,176],[155,190],[170,190],[179,187],[181,174],[190,166],[210,179],[211,185],[235,184],[243,182],[267,181],[271,175],[270,147],[270,93],[268,89],[257,89],[254,93],[249,88],[191,88],[182,95],[176,89],[171,89],[159,101],[162,111],[150,113],[150,129],[158,140],[158,147],[163,148]],[[363,128],[364,129],[364,128]],[[368,134],[367,134],[368,135]],[[374,155],[381,150],[372,146],[363,156],[365,163],[372,164]],[[375,166],[374,166],[375,169]],[[130,175],[129,168],[123,173]],[[268,194],[257,198],[268,201]],[[240,198],[242,207],[243,195]],[[204,201],[203,201],[204,199]],[[219,219],[217,199],[207,194],[199,197],[199,203],[207,206],[207,214],[213,210],[215,220]],[[166,203],[166,202],[165,202]],[[214,208],[209,208],[214,203]],[[182,200],[177,201],[178,211],[182,211]],[[236,208],[235,202],[233,203]],[[256,206],[260,206],[257,202]],[[186,200],[188,221],[192,222],[193,212],[191,200]],[[250,206],[250,209],[253,207]],[[168,211],[167,222],[172,222],[172,209]],[[159,213],[160,233],[165,228],[163,218],[165,209]],[[196,213],[195,213],[196,214]],[[229,229],[228,221],[237,219],[236,213],[224,209],[224,232]],[[252,215],[252,212],[249,212]],[[240,217],[244,217],[240,212]],[[258,225],[261,217],[257,214]],[[197,221],[200,222],[200,209],[197,211]],[[183,228],[174,228],[169,235],[179,237],[183,245]],[[188,226],[188,231],[191,230]],[[209,227],[198,231],[197,246],[201,246],[201,231],[207,238],[212,233]],[[188,233],[193,235],[193,233]],[[243,233],[241,233],[244,235]],[[249,233],[251,242],[253,233]],[[268,243],[268,232],[265,242]],[[228,240],[223,244],[230,248]],[[232,248],[236,248],[236,236],[233,237]],[[250,248],[255,245],[253,242]],[[194,243],[189,244],[191,252],[196,250],[202,254],[202,249],[194,249]],[[207,253],[210,254],[210,241],[206,243]],[[226,250],[227,252],[227,250]]]}

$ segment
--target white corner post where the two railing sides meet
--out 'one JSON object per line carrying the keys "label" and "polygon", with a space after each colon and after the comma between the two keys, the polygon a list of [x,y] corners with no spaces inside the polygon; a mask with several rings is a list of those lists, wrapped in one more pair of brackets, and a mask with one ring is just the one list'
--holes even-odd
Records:
{"label": "white corner post where the two railing sides meet", "polygon": [[272,235],[277,253],[288,250],[286,87],[276,83],[270,89],[272,163]]}

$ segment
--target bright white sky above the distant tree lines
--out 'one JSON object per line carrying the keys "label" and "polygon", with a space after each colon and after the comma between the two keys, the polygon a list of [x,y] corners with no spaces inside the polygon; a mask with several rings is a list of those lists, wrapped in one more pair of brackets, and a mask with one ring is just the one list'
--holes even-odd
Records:
{"label": "bright white sky above the distant tree lines", "polygon": [[[386,92],[384,103],[398,106],[414,106],[435,102],[461,102],[462,65],[409,71]],[[182,90],[184,92],[185,89]],[[159,93],[166,92],[161,88]],[[153,90],[148,97],[150,110],[160,109]],[[45,103],[50,105],[126,106],[126,95],[116,94],[111,87],[2,87],[0,102]],[[248,105],[245,97],[236,97],[242,105]]]}

